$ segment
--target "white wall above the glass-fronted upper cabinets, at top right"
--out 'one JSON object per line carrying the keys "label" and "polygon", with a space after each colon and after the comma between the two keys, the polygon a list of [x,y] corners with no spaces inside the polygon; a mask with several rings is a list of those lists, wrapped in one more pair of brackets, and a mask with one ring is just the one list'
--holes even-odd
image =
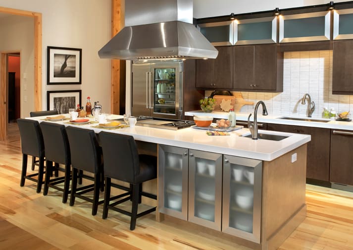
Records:
{"label": "white wall above the glass-fronted upper cabinets, at top right", "polygon": [[[343,2],[346,0],[335,0]],[[329,0],[194,0],[194,18],[327,4]]]}

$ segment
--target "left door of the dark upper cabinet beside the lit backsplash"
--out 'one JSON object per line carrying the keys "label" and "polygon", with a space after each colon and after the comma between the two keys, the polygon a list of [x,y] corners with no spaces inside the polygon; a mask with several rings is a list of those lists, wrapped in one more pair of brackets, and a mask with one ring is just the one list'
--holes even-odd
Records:
{"label": "left door of the dark upper cabinet beside the lit backsplash", "polygon": [[252,90],[254,84],[254,53],[253,45],[235,46],[233,88]]}

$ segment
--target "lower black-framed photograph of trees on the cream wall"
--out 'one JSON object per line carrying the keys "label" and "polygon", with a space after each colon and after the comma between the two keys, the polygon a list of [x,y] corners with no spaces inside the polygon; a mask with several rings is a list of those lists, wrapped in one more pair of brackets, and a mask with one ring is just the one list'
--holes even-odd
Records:
{"label": "lower black-framed photograph of trees on the cream wall", "polygon": [[57,110],[59,114],[69,113],[69,109],[81,107],[81,90],[47,91],[47,110]]}

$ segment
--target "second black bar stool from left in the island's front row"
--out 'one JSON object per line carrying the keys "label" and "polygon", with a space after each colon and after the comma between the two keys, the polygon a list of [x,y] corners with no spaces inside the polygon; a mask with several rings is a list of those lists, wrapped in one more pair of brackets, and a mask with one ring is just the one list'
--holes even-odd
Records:
{"label": "second black bar stool from left in the island's front row", "polygon": [[[63,192],[62,202],[66,203],[70,186],[71,155],[65,126],[47,122],[42,122],[40,126],[42,128],[46,148],[47,166],[43,194],[47,195],[49,187],[52,187]],[[59,168],[59,170],[64,172],[64,176],[50,180],[53,162],[65,165],[64,169]],[[63,188],[57,186],[60,183],[64,183]]]}

